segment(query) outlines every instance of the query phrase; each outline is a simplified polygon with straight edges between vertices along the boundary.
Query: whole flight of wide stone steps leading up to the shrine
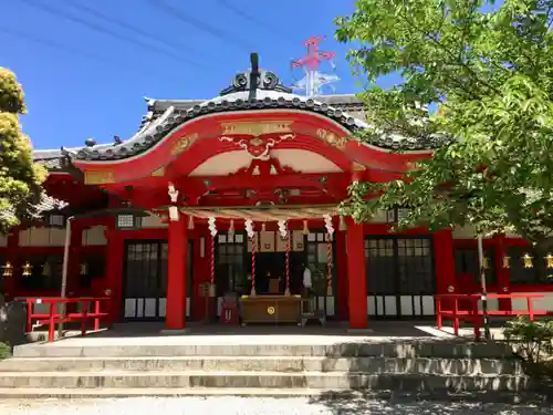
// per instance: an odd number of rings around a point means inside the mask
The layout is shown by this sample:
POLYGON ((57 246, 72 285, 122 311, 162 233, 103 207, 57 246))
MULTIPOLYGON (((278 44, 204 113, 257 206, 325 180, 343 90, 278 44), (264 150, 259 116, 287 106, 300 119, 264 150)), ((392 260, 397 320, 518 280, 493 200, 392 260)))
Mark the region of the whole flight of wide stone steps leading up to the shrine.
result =
MULTIPOLYGON (((269 339, 265 336, 265 339, 269 339)), ((448 397, 531 391, 498 344, 340 341, 333 344, 28 344, 0 362, 2 397, 294 396, 372 393, 448 397)), ((326 342, 327 343, 327 342, 326 342)))

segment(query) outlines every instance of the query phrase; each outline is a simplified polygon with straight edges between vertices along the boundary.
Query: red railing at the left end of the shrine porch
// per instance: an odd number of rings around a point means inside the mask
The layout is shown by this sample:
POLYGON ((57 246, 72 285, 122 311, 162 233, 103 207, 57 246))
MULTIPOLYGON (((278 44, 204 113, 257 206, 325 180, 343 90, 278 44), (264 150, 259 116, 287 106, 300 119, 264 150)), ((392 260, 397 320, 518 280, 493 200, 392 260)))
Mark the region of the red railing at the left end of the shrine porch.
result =
POLYGON ((103 312, 101 303, 107 302, 109 298, 28 298, 27 302, 27 332, 31 332, 34 325, 48 325, 48 341, 54 341, 55 325, 60 323, 81 322, 81 334, 86 335, 86 323, 94 320, 94 330, 100 330, 100 320, 107 317, 107 312, 103 312), (34 304, 48 304, 48 313, 35 313, 34 304), (64 304, 63 315, 60 313, 59 305, 64 304), (90 305, 92 311, 90 310, 90 305), (70 310, 71 305, 81 305, 81 311, 70 310))

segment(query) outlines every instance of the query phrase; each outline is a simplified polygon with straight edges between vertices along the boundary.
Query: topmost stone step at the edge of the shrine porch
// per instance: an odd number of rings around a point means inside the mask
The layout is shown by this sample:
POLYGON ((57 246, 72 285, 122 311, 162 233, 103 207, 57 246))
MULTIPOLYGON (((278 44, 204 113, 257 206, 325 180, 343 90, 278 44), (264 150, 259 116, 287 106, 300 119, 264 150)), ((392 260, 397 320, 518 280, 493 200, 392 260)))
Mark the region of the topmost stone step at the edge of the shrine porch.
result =
POLYGON ((442 359, 510 359, 504 344, 466 342, 341 342, 336 344, 25 344, 15 346, 14 357, 139 357, 139 356, 383 356, 442 359))

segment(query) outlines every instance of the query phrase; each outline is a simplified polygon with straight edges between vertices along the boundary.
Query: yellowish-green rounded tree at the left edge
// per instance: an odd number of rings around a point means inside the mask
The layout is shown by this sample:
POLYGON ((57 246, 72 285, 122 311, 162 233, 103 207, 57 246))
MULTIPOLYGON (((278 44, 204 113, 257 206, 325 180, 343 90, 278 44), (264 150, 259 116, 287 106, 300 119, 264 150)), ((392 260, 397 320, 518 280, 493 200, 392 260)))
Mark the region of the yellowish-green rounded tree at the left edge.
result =
POLYGON ((31 215, 42 195, 45 170, 33 163, 31 142, 21 131, 24 113, 21 85, 0 68, 0 234, 31 215))

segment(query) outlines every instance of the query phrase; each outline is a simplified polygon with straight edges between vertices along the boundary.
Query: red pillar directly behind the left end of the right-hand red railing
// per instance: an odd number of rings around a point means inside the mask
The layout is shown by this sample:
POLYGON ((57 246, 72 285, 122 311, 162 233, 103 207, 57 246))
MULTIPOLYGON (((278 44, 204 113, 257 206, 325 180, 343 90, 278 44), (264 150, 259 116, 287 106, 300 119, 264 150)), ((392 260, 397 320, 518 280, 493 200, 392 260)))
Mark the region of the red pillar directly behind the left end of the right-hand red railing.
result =
MULTIPOLYGON (((442 229, 434 234, 434 258, 436 269, 436 293, 458 294, 455 274, 453 238, 450 229, 442 229)), ((442 308, 450 310, 451 301, 444 301, 442 308)))

